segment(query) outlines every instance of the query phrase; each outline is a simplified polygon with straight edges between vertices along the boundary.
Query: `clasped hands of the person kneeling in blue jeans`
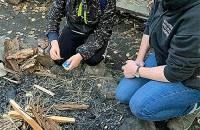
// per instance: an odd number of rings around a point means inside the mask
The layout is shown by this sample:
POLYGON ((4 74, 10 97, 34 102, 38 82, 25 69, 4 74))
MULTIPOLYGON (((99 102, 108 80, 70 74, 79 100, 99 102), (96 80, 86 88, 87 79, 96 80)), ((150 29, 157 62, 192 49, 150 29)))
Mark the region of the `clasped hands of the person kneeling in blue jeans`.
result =
POLYGON ((125 78, 134 78, 138 65, 133 60, 126 61, 126 65, 122 67, 125 78))

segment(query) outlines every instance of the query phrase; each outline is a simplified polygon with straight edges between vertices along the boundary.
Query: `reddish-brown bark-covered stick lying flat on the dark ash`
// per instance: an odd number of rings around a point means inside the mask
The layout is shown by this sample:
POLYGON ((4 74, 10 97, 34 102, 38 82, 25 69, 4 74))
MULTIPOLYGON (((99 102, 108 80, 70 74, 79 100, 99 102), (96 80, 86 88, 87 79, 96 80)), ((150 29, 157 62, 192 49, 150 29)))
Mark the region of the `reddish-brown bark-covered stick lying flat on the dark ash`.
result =
POLYGON ((65 111, 65 110, 86 110, 89 108, 89 105, 86 104, 77 104, 77 103, 67 103, 67 104, 60 104, 55 105, 55 109, 59 111, 65 111))

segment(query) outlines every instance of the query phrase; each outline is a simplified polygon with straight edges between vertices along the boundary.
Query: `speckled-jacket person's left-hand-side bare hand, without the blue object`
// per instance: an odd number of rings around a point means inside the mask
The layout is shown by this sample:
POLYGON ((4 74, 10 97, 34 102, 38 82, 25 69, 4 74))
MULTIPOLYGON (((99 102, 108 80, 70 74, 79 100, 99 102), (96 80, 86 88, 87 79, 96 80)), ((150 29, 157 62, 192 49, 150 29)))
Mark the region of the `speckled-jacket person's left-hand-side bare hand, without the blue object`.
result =
POLYGON ((59 48, 57 40, 51 41, 50 56, 51 56, 51 59, 53 59, 53 60, 61 59, 61 57, 60 57, 60 48, 59 48))

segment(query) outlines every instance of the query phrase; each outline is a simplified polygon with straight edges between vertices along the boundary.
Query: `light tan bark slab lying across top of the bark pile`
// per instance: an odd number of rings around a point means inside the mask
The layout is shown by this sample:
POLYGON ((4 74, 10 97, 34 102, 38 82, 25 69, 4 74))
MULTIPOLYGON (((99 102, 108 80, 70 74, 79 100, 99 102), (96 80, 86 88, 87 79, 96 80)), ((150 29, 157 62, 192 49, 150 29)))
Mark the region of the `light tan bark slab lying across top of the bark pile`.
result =
POLYGON ((37 48, 27 48, 17 51, 16 53, 9 54, 6 59, 28 59, 34 55, 36 55, 38 52, 37 48))

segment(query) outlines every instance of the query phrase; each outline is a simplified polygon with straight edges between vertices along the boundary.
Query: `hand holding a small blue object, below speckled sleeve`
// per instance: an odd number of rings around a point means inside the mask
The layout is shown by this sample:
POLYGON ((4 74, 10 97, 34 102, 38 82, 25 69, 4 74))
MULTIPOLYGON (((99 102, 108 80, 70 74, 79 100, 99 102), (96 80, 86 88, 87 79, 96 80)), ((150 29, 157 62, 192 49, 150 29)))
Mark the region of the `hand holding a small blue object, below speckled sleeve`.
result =
POLYGON ((78 53, 76 55, 71 56, 68 60, 67 63, 69 63, 69 67, 66 68, 67 71, 71 71, 74 68, 78 67, 79 64, 81 63, 82 56, 78 53))

